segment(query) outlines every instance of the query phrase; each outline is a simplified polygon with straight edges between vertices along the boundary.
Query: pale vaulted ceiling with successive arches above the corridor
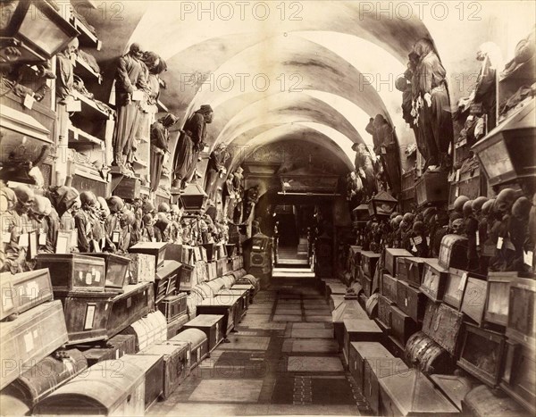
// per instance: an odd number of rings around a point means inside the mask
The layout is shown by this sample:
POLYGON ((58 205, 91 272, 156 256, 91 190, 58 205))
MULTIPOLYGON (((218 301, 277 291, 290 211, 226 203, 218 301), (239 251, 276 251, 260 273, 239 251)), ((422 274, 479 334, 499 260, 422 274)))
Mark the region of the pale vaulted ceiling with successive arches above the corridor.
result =
MULTIPOLYGON (((449 21, 437 19, 438 11, 419 15, 414 8, 408 15, 397 8, 379 15, 375 7, 378 2, 124 1, 106 19, 102 11, 93 13, 100 19, 86 15, 103 39, 97 59, 107 74, 131 42, 163 57, 168 88, 162 101, 180 117, 178 127, 199 105, 213 106, 212 147, 226 143, 251 151, 295 139, 322 146, 349 169, 352 144, 372 143, 364 127, 377 113, 393 124, 401 145, 414 141, 394 80, 418 38, 432 38, 447 70, 460 72, 478 71, 474 54, 482 42, 514 42, 504 40, 497 8, 485 10, 485 4, 479 21, 468 21, 469 9, 460 20, 454 4, 449 21)), ((105 82, 108 94, 111 80, 105 82)), ((449 88, 457 100, 471 84, 449 88)), ((245 154, 234 152, 232 163, 245 154)))

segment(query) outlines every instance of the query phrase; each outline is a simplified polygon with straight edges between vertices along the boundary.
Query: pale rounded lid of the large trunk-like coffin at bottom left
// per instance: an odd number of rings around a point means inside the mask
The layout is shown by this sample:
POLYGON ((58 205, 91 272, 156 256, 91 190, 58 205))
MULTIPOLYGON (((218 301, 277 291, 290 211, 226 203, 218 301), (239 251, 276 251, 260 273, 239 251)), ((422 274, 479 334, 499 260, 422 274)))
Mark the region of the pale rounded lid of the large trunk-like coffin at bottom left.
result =
POLYGON ((122 361, 121 370, 118 370, 117 360, 96 363, 88 372, 40 401, 38 410, 46 413, 47 407, 52 410, 69 407, 76 413, 76 404, 86 404, 95 409, 113 411, 144 379, 145 371, 136 363, 122 361), (118 375, 118 372, 121 373, 118 375))

